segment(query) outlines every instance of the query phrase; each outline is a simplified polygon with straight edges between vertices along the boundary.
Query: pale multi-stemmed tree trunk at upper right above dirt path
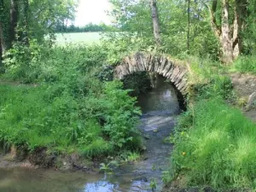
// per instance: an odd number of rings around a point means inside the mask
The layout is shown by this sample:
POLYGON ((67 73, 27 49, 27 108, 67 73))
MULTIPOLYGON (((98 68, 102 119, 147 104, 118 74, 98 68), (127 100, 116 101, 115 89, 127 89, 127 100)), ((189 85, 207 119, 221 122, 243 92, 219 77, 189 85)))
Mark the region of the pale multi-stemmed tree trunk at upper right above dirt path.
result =
POLYGON ((230 63, 241 53, 241 30, 247 15, 247 0, 212 0, 212 6, 207 7, 211 15, 212 30, 221 45, 221 59, 224 63, 230 63), (220 16, 218 9, 221 10, 220 16))

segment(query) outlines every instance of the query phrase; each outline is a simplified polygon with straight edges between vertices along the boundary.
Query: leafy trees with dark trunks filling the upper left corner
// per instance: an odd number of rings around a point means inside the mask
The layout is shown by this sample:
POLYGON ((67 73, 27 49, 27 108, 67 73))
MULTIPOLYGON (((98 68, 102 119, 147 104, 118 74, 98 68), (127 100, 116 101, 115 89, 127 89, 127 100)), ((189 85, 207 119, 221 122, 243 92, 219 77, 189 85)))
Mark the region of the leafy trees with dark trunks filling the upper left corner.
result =
POLYGON ((77 0, 0 0, 0 58, 15 43, 44 41, 63 20, 73 20, 77 0))

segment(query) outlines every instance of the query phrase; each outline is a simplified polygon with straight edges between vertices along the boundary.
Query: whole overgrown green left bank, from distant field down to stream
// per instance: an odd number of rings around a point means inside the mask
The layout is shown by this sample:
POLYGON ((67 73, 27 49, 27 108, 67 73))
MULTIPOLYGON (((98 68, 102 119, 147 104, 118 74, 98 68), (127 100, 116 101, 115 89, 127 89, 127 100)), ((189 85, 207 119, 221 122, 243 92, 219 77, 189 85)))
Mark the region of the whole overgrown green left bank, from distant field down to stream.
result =
POLYGON ((100 73, 107 58, 102 47, 37 48, 22 47, 33 51, 30 57, 14 53, 15 59, 5 61, 7 73, 0 83, 5 149, 14 145, 31 153, 48 148, 101 158, 141 148, 140 109, 121 82, 108 82, 108 71, 100 73))

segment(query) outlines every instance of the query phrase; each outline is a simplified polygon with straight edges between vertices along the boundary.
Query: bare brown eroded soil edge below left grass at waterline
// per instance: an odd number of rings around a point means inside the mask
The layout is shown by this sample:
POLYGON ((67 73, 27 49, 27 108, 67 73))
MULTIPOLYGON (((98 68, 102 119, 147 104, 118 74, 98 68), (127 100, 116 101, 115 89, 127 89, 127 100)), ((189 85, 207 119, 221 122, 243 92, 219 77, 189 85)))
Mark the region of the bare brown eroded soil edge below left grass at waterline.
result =
POLYGON ((47 148, 38 148, 31 154, 15 147, 12 147, 7 154, 0 152, 0 168, 26 167, 92 172, 98 165, 99 162, 86 160, 79 154, 53 154, 49 153, 47 148))

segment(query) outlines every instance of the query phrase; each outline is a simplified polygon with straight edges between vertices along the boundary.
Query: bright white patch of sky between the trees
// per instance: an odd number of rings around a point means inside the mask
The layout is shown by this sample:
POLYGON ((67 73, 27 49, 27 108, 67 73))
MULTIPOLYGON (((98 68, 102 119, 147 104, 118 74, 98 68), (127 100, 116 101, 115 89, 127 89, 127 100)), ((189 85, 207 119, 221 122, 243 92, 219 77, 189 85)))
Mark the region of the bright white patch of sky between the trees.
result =
POLYGON ((93 24, 99 24, 104 22, 110 23, 106 10, 110 9, 110 3, 108 0, 79 0, 79 8, 77 9, 75 26, 85 26, 92 22, 93 24))

